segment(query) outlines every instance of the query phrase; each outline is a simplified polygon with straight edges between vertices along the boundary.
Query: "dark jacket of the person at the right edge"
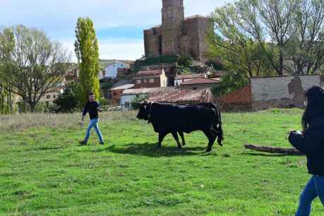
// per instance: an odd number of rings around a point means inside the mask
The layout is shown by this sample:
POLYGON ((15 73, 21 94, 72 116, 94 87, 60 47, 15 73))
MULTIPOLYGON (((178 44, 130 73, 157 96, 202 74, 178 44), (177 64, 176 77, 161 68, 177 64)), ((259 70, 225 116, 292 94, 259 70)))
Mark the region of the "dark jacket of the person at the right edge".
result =
POLYGON ((307 155, 308 172, 324 176, 324 114, 314 118, 308 131, 290 133, 289 142, 300 152, 307 155))

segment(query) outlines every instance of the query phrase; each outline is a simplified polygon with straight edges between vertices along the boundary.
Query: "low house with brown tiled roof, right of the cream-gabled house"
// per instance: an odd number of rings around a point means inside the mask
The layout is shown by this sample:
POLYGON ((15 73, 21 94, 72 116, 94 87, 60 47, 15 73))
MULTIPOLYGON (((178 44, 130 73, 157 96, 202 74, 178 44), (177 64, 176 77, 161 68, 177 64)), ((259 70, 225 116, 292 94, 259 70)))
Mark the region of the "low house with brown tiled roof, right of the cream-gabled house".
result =
POLYGON ((194 78, 180 83, 181 90, 213 89, 220 86, 220 78, 194 78))

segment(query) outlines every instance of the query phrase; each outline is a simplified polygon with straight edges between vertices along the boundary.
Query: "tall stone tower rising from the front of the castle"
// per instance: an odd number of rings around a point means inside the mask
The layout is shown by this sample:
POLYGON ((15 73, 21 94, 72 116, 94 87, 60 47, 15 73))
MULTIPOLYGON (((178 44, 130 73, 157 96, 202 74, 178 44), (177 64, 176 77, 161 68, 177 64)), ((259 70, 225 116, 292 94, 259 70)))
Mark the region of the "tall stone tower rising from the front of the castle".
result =
POLYGON ((180 54, 184 0, 162 0, 162 54, 180 54))

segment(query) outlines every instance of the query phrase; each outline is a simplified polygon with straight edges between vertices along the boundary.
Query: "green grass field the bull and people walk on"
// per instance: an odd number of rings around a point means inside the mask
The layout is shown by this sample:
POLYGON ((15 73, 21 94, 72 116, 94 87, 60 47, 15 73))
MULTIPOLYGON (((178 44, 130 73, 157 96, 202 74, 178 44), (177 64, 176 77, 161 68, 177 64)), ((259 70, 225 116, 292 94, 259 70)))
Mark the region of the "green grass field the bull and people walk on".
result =
MULTIPOLYGON (((135 112, 105 113, 107 145, 78 146, 79 114, 0 116, 0 215, 294 215, 310 178, 305 157, 245 150, 289 147, 301 111, 223 114, 224 147, 202 132, 176 149, 135 112)), ((319 200, 313 215, 324 215, 319 200)))

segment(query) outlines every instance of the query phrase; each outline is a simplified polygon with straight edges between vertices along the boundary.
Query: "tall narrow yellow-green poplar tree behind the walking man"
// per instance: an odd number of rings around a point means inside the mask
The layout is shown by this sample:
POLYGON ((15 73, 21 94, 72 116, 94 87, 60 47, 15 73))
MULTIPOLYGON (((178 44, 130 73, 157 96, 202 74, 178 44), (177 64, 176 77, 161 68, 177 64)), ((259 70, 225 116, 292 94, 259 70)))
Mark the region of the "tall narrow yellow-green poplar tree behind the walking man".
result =
POLYGON ((99 47, 90 18, 78 18, 76 25, 76 42, 74 43, 76 56, 80 65, 80 104, 88 100, 88 93, 93 92, 100 98, 99 82, 99 47))

